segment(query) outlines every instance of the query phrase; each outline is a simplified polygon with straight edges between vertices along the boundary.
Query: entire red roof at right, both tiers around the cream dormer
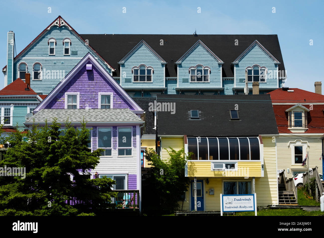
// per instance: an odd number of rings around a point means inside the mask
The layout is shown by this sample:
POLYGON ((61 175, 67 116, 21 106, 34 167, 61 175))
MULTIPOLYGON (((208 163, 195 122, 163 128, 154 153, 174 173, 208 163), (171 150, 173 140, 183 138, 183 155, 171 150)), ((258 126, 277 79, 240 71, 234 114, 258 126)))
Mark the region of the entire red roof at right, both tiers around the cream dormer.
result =
POLYGON ((268 93, 271 96, 279 133, 293 134, 292 131, 288 130, 288 112, 285 112, 285 110, 296 104, 302 104, 302 106, 310 109, 307 112, 308 130, 305 133, 324 133, 324 95, 308 92, 299 88, 289 88, 289 90, 294 90, 294 92, 284 91, 282 88, 279 88, 268 93), (310 105, 312 105, 312 109, 310 105))

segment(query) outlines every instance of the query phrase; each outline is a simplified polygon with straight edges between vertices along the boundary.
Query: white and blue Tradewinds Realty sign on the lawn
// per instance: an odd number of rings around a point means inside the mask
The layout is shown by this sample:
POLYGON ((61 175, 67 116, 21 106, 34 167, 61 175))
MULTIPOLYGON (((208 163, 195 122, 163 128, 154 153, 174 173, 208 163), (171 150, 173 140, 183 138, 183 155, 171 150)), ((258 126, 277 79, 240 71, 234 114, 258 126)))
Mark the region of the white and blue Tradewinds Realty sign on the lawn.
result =
POLYGON ((221 215, 223 212, 230 211, 255 211, 255 215, 257 215, 256 204, 256 194, 221 194, 221 215))

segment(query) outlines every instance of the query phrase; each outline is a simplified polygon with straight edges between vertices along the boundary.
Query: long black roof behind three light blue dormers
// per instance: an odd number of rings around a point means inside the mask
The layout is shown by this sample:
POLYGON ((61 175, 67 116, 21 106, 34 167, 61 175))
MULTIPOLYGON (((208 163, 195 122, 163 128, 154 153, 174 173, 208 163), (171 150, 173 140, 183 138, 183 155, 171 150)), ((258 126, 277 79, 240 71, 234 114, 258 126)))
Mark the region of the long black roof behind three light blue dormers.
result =
POLYGON ((201 40, 223 62, 223 77, 234 77, 231 63, 245 51, 254 40, 258 40, 279 62, 279 70, 284 70, 284 61, 277 35, 104 35, 81 34, 112 67, 116 69, 113 76, 120 76, 118 62, 141 40, 145 40, 166 62, 166 77, 177 77, 175 62, 201 40), (160 40, 168 44, 160 45, 160 40), (238 45, 234 45, 238 40, 238 45))

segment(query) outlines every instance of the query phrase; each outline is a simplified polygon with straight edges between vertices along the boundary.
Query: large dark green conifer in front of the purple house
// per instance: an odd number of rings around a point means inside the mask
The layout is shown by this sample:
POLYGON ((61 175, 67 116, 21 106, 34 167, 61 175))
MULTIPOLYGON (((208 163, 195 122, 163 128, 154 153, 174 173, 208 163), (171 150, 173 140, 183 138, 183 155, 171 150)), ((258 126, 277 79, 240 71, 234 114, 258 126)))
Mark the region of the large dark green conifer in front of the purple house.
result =
POLYGON ((13 147, 0 167, 25 168, 26 173, 0 176, 0 215, 94 215, 116 207, 111 202, 117 196, 111 189, 115 181, 90 179, 93 174, 87 172, 98 165, 101 149, 88 149, 86 123, 76 130, 66 122, 64 135, 60 128, 54 119, 50 126, 33 125, 27 135, 16 130, 9 136, 13 147))

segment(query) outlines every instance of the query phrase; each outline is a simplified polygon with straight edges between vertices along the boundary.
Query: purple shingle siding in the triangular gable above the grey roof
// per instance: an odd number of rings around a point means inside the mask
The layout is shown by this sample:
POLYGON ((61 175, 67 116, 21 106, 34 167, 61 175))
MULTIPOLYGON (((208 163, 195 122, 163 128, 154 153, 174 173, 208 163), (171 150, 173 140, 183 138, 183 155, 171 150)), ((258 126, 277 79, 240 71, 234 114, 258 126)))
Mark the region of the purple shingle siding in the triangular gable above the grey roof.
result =
MULTIPOLYGON (((88 62, 89 63, 89 62, 88 62)), ((65 93, 80 93, 79 108, 98 108, 99 92, 113 93, 113 108, 134 108, 114 89, 111 83, 95 68, 87 72, 86 66, 65 85, 65 87, 46 106, 47 109, 64 109, 65 93)))

